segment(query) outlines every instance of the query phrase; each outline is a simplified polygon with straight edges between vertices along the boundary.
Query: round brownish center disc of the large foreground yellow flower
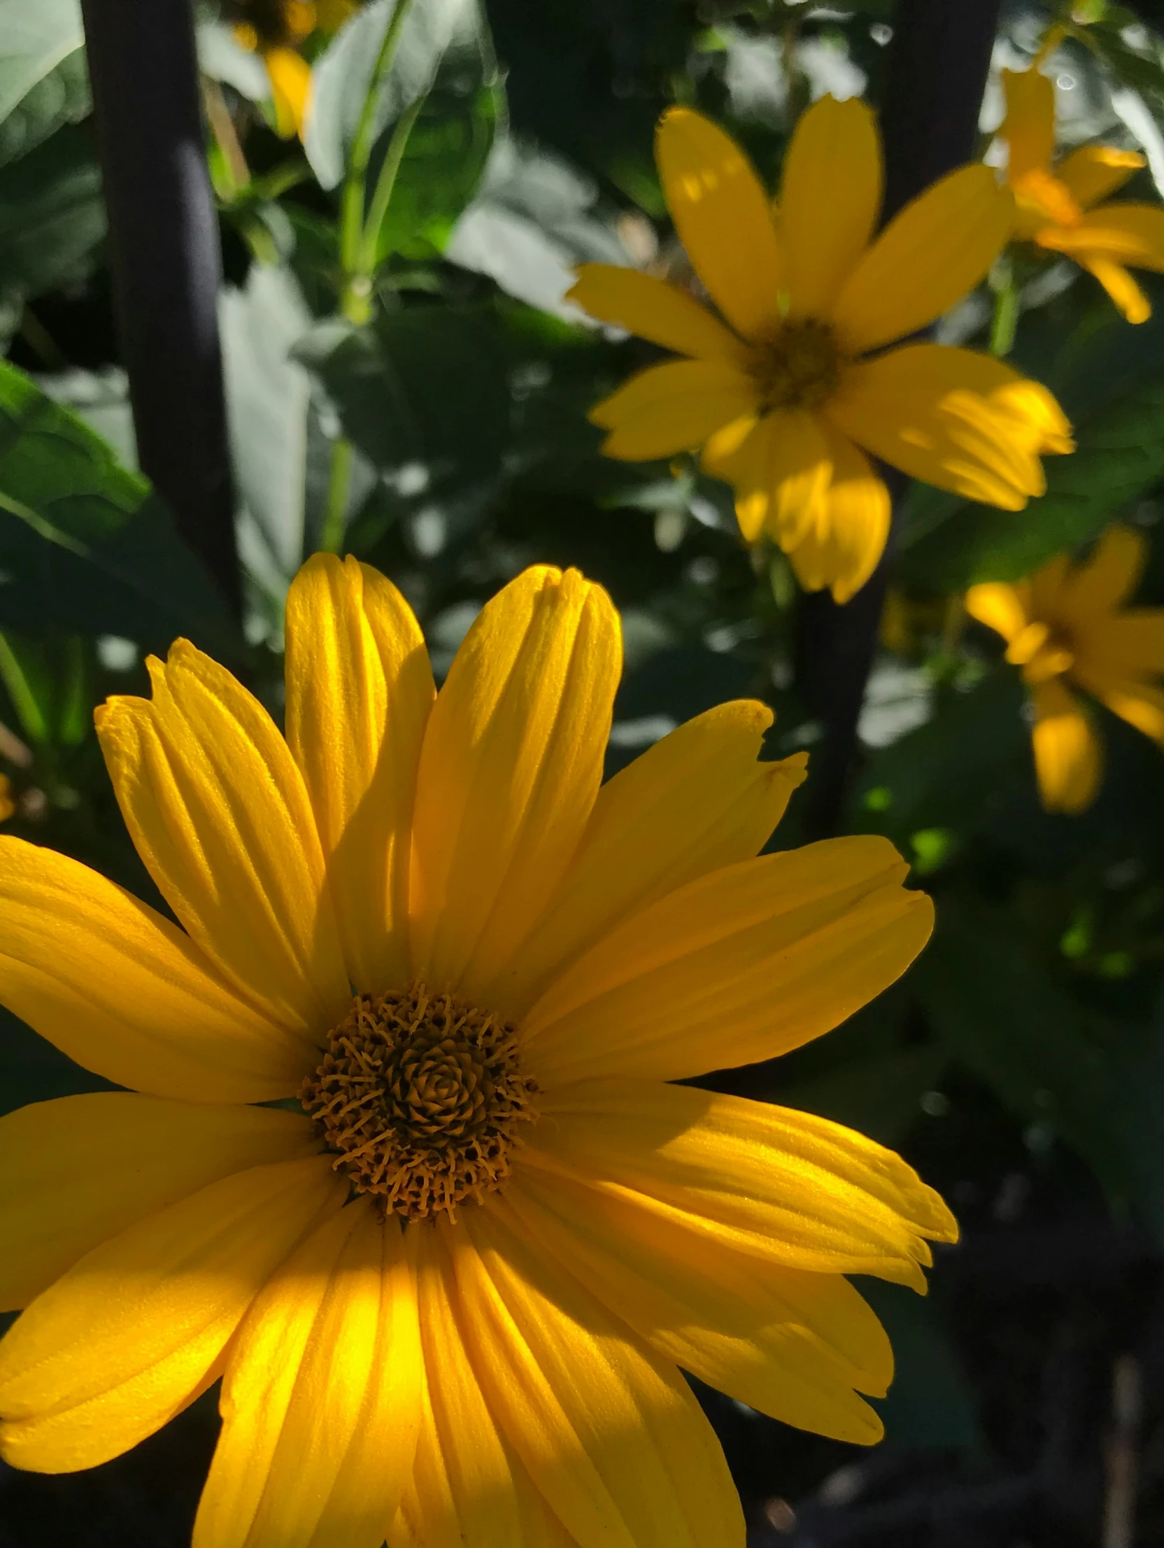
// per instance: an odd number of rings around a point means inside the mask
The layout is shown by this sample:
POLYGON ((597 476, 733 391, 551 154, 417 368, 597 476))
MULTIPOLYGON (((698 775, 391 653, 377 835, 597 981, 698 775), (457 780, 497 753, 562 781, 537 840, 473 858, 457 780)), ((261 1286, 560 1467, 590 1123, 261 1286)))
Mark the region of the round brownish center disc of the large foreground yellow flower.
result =
POLYGON ((356 995, 300 1102, 353 1187, 421 1220, 505 1183, 536 1096, 514 1026, 410 985, 356 995))

